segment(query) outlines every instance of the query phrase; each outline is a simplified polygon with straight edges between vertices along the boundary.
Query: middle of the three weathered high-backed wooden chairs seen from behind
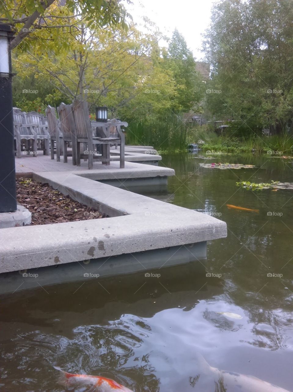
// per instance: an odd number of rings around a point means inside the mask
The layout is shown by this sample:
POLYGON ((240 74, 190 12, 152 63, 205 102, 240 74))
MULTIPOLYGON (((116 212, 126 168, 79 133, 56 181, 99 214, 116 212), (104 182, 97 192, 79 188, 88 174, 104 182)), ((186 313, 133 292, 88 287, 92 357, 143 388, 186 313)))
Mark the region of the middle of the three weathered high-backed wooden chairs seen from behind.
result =
MULTIPOLYGON (((61 103, 57 108, 60 128, 63 135, 63 162, 67 163, 67 142, 75 140, 74 120, 72 115, 72 105, 61 103)), ((72 165, 76 165, 75 143, 72 143, 72 165)))

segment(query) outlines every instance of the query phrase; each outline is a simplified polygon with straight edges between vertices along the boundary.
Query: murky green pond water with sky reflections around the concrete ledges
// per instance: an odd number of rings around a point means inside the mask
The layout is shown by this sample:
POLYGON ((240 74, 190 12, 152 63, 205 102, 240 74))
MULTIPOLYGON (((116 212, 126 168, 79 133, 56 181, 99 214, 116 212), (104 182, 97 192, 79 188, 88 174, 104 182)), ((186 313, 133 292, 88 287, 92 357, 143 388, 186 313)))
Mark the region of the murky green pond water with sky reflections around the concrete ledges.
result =
MULTIPOLYGON (((164 156, 161 165, 176 176, 167 193, 152 196, 224 220, 228 237, 208 244, 207 260, 166 262, 154 276, 142 271, 2 296, 0 390, 63 391, 52 365, 135 392, 250 390, 221 387, 205 372, 206 360, 293 391, 293 191, 235 185, 293 182, 293 163, 201 155, 164 156), (199 165, 211 162, 256 167, 199 165)), ((261 390, 270 391, 254 389, 261 390)))

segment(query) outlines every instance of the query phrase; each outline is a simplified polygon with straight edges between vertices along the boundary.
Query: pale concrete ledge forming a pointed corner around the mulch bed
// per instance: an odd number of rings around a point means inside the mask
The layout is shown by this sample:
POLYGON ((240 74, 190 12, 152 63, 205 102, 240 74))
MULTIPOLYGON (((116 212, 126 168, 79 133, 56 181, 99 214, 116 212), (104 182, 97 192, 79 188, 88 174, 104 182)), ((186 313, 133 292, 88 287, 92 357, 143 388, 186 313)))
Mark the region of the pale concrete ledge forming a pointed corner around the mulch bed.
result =
MULTIPOLYGON (((152 172, 158 169, 152 168, 152 172)), ((111 218, 0 229, 0 272, 226 237, 226 223, 221 220, 99 183, 85 175, 84 171, 39 172, 33 177, 111 218)))

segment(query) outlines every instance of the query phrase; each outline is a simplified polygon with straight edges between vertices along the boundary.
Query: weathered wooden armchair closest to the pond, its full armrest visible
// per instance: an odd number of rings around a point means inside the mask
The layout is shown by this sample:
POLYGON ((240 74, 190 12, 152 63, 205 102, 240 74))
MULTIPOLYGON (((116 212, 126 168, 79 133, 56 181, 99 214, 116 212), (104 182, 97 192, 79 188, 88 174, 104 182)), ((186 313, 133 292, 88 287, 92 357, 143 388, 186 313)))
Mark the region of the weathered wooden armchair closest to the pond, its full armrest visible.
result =
MULTIPOLYGON (((88 168, 93 168, 93 159, 110 165, 110 144, 120 144, 120 168, 124 168, 124 134, 120 131, 120 125, 127 126, 127 123, 115 123, 119 137, 108 137, 108 129, 113 127, 113 123, 99 123, 96 122, 97 129, 102 129, 99 136, 94 137, 92 131, 92 124, 89 118, 88 104, 86 101, 74 100, 72 104, 72 113, 74 118, 74 130, 76 138, 75 151, 77 165, 80 165, 81 152, 80 143, 87 143, 87 151, 82 154, 83 158, 88 158, 88 168), (102 145, 102 155, 97 155, 94 145, 102 145)), ((73 145, 73 143, 72 143, 73 145)))

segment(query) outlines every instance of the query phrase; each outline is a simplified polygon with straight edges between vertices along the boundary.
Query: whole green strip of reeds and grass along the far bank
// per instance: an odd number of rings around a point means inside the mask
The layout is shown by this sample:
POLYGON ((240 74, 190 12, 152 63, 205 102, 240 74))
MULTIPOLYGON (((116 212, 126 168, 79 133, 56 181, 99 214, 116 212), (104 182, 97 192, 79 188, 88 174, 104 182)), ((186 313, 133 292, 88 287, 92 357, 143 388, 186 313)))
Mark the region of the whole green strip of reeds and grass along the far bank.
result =
POLYGON ((129 122, 126 128, 126 143, 131 145, 151 145, 161 152, 186 151, 190 143, 199 140, 203 150, 224 152, 267 152, 293 154, 293 138, 289 134, 280 136, 243 137, 229 135, 228 132, 216 134, 212 126, 184 124, 175 114, 146 118, 129 122))

